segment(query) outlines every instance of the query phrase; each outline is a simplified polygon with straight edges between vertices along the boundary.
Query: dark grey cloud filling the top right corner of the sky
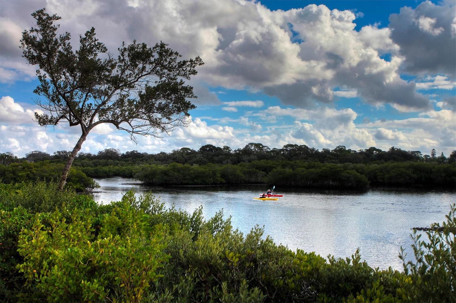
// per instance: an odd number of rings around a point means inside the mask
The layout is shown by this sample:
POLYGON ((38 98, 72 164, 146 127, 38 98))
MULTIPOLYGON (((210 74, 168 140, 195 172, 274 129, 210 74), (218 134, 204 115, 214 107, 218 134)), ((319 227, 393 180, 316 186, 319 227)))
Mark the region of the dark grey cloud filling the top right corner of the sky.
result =
POLYGON ((402 68, 413 74, 456 73, 455 2, 424 1, 389 16, 391 38, 404 57, 402 68))

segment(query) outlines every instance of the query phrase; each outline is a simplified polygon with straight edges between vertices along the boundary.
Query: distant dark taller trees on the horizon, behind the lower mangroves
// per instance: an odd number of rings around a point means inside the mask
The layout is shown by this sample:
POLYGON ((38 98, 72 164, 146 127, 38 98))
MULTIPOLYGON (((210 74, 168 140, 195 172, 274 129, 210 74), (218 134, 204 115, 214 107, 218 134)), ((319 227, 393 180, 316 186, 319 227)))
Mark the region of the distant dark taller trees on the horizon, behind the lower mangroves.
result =
MULTIPOLYGON (((147 152, 120 152, 115 148, 107 148, 96 154, 89 152, 80 152, 75 159, 79 166, 113 165, 116 162, 156 162, 161 164, 181 163, 181 164, 238 164, 241 162, 253 162, 256 160, 304 160, 308 162, 326 162, 326 163, 371 163, 371 162, 456 162, 456 151, 453 151, 449 157, 443 152, 437 156, 435 149, 431 150, 430 155, 423 155, 420 151, 404 151, 392 146, 388 151, 383 151, 376 147, 360 149, 358 151, 347 149, 345 146, 337 146, 330 150, 323 148, 321 151, 306 145, 287 144, 282 148, 269 148, 261 143, 249 143, 243 148, 233 150, 229 146, 214 146, 207 144, 201 146, 198 150, 188 147, 182 147, 172 152, 159 152, 149 154, 147 152), (103 161, 109 162, 103 162, 103 161)), ((70 156, 69 151, 57 151, 52 155, 47 152, 32 151, 28 152, 25 157, 18 158, 11 152, 0 154, 0 164, 9 164, 11 162, 28 161, 39 162, 43 160, 61 160, 66 161, 70 156)))

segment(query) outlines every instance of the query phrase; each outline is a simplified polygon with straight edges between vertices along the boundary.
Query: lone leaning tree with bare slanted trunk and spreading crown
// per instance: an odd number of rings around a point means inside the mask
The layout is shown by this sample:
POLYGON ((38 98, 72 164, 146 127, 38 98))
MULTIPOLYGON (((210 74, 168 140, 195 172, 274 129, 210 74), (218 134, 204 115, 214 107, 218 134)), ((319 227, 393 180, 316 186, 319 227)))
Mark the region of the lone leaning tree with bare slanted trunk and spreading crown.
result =
POLYGON ((122 43, 115 58, 95 37, 95 29, 79 36, 79 49, 73 51, 71 35, 58 34, 61 17, 45 9, 32 14, 36 27, 22 33, 23 57, 38 66, 40 84, 34 93, 43 114, 35 113, 41 126, 81 127, 81 136, 68 157, 60 180, 63 189, 71 164, 88 133, 102 123, 127 131, 137 143, 136 135, 159 137, 169 134, 190 120, 196 98, 193 87, 184 79, 196 75, 203 64, 200 57, 180 60, 178 52, 161 42, 153 47, 135 40, 122 43))

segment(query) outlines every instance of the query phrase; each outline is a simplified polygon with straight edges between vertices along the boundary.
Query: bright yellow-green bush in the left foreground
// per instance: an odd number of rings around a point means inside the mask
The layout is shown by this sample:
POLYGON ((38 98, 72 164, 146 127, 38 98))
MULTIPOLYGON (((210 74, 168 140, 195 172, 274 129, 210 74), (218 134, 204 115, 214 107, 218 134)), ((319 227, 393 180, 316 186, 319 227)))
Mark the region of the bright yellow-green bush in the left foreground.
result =
POLYGON ((18 242, 24 299, 140 302, 168 258, 161 228, 146 216, 127 203, 98 218, 91 209, 36 216, 18 242))

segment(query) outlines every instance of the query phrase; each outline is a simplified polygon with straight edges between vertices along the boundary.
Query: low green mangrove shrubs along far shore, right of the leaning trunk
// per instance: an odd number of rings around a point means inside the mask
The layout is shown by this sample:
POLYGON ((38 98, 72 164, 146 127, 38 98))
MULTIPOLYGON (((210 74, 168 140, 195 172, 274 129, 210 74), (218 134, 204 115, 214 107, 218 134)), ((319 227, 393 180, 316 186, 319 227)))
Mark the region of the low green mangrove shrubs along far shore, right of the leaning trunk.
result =
POLYGON ((134 177, 153 185, 258 184, 281 187, 366 188, 456 186, 456 166, 438 162, 334 164, 260 160, 233 164, 126 164, 81 167, 90 177, 134 177))

